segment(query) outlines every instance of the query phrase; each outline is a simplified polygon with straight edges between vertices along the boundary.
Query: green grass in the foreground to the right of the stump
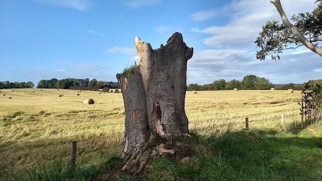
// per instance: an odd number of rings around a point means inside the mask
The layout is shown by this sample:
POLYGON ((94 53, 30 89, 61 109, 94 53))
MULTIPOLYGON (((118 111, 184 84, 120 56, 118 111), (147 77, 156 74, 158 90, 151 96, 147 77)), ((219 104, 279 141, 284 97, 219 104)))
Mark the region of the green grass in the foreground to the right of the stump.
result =
MULTIPOLYGON (((307 129, 320 130, 322 124, 307 129)), ((190 161, 156 158, 136 180, 322 180, 322 137, 305 130, 192 134, 190 161), (259 133, 260 132, 260 133, 259 133), (297 132, 297 133, 295 133, 297 132)), ((135 180, 132 178, 132 180, 135 180)))

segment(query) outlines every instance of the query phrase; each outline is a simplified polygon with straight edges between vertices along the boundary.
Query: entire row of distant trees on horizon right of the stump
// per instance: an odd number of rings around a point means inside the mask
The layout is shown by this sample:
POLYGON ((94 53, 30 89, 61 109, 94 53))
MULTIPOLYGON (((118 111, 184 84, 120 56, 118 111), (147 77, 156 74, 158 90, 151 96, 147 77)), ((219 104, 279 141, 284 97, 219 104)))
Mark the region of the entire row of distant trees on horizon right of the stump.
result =
MULTIPOLYGON (((322 85, 322 80, 310 80, 310 83, 318 83, 322 85)), ((255 75, 247 75, 243 80, 230 80, 226 82, 224 79, 215 80, 213 83, 198 85, 196 83, 189 84, 187 91, 221 91, 221 90, 232 90, 238 88, 240 90, 269 90, 275 88, 277 90, 293 89, 294 91, 302 91, 304 84, 288 83, 285 85, 275 86, 269 79, 264 77, 258 77, 255 75)))

